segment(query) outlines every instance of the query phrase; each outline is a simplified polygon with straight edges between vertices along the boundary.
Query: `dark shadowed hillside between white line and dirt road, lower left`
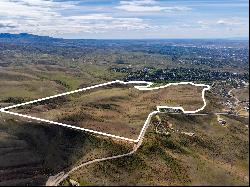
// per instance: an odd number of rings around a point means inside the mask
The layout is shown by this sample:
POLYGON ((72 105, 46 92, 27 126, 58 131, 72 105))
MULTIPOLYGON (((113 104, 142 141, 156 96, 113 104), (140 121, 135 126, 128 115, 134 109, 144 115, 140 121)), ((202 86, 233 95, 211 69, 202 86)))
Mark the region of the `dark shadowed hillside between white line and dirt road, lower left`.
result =
POLYGON ((44 185, 78 162, 122 154, 130 145, 0 114, 0 185, 44 185))

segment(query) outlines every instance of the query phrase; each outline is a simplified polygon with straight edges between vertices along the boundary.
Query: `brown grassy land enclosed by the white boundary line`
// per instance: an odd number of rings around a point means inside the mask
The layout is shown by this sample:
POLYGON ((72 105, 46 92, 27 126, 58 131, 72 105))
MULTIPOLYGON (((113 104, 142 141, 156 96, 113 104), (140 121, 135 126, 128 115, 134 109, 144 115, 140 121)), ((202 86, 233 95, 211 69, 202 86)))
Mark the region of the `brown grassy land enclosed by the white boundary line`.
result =
POLYGON ((169 86, 141 91, 134 85, 112 84, 14 108, 12 111, 118 136, 136 139, 156 106, 203 106, 203 87, 169 86))

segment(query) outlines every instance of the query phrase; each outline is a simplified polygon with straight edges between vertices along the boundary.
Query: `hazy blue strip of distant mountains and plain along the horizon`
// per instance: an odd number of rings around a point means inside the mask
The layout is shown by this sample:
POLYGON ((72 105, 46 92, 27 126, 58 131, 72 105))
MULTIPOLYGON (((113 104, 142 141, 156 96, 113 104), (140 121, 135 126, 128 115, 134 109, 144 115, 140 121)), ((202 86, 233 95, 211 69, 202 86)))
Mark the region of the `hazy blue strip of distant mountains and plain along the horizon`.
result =
MULTIPOLYGON (((126 48, 134 51, 145 49, 145 46, 153 46, 154 48, 162 48, 165 46, 179 47, 248 47, 248 40, 242 39, 145 39, 145 40, 129 40, 129 39, 63 39, 53 38, 49 36, 39 36, 29 33, 10 34, 0 33, 0 47, 3 44, 11 46, 36 47, 37 49, 47 50, 49 47, 66 47, 66 48, 81 48, 86 47, 102 48, 112 47, 115 49, 126 48)), ((6 47, 6 45, 4 45, 6 47)))

